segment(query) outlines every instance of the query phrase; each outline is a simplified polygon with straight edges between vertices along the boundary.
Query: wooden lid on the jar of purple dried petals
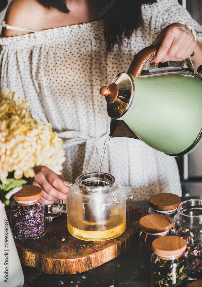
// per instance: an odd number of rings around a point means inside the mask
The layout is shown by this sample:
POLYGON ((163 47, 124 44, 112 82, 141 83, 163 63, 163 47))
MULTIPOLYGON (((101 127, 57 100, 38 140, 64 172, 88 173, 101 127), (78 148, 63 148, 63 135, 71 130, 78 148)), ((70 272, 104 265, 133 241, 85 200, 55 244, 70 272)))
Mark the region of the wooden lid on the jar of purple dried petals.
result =
POLYGON ((13 199, 17 201, 33 201, 42 196, 42 189, 36 185, 23 185, 22 189, 13 194, 13 199))

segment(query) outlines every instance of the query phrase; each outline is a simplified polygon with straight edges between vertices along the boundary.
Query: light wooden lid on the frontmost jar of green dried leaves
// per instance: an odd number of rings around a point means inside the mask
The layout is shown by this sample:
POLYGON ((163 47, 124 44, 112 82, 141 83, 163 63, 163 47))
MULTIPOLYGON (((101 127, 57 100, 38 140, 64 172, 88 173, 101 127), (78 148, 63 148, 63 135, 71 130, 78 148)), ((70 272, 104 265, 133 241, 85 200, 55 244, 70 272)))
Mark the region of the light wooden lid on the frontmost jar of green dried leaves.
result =
POLYGON ((162 236, 152 242, 152 249, 159 256, 179 255, 187 248, 183 238, 178 236, 162 236))

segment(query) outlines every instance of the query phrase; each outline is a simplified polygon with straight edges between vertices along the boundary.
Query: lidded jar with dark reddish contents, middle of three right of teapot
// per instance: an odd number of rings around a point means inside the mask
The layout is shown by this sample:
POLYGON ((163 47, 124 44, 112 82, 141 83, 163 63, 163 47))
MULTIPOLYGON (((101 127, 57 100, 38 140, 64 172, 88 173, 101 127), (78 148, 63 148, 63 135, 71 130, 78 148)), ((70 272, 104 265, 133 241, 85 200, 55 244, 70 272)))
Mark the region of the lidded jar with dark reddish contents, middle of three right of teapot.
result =
POLYGON ((162 214, 150 214, 139 221, 139 264, 143 269, 150 269, 152 242, 168 234, 173 226, 172 218, 162 214))

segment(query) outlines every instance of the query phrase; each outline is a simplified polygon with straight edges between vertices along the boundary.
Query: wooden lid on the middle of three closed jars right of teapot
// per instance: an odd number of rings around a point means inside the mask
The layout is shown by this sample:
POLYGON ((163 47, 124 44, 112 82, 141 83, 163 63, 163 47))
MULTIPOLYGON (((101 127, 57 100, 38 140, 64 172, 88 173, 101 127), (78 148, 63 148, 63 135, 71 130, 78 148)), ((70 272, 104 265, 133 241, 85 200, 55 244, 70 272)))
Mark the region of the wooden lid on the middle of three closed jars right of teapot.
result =
POLYGON ((172 218, 164 214, 149 214, 139 221, 140 228, 147 233, 160 233, 173 227, 172 218))

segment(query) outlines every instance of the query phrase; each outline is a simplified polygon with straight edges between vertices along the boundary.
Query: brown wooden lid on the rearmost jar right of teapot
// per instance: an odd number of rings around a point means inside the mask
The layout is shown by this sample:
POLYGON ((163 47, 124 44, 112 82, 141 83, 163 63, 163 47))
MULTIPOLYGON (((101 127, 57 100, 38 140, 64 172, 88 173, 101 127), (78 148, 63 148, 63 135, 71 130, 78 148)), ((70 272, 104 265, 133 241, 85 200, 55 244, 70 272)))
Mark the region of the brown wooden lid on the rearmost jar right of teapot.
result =
POLYGON ((174 210, 177 208, 181 199, 173 193, 157 193, 149 198, 149 205, 155 210, 174 210))

